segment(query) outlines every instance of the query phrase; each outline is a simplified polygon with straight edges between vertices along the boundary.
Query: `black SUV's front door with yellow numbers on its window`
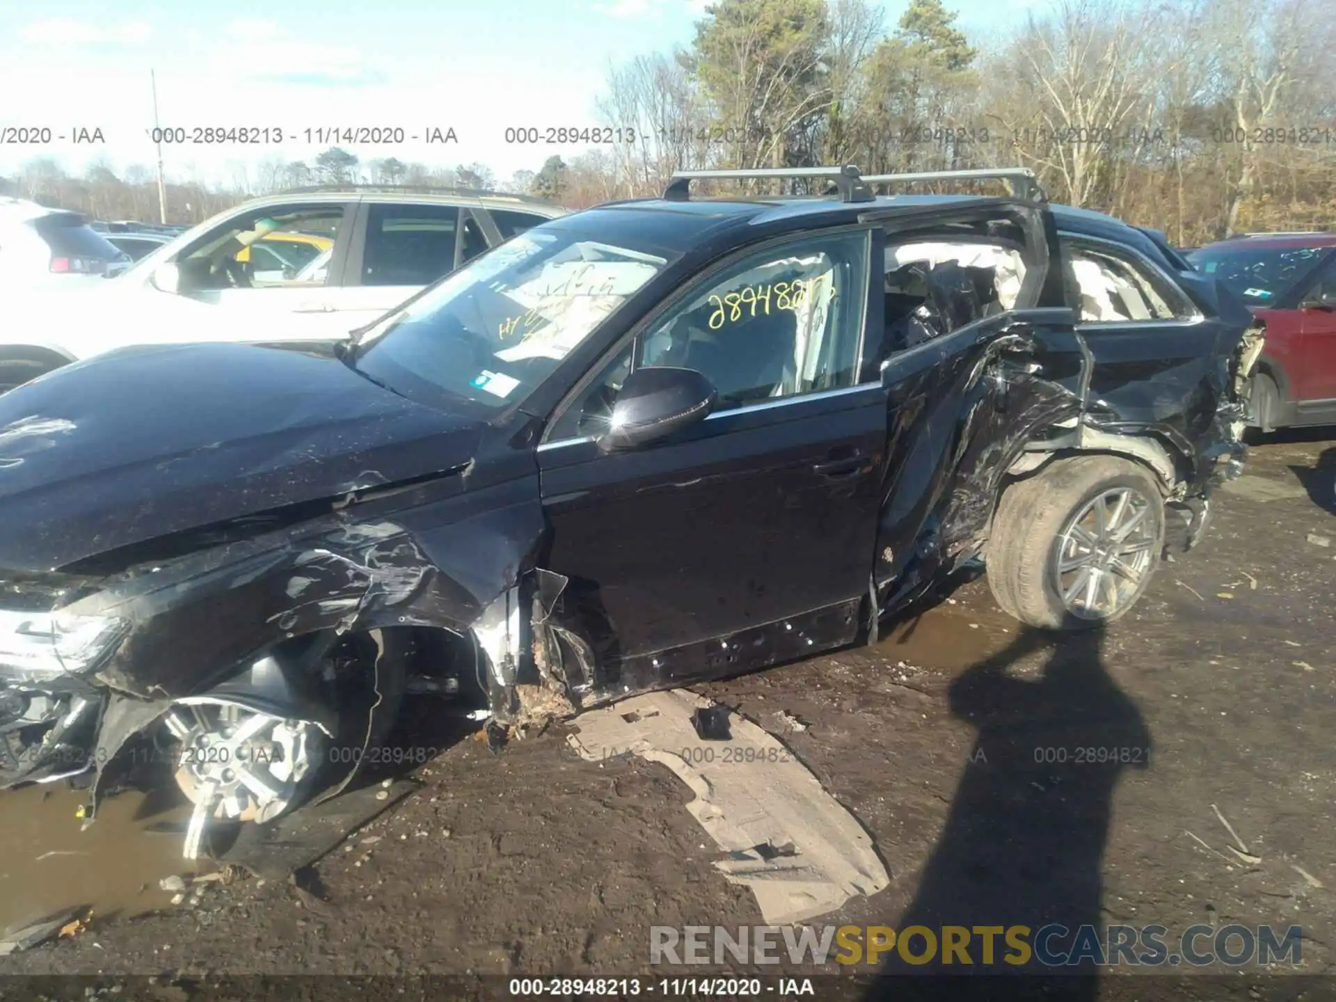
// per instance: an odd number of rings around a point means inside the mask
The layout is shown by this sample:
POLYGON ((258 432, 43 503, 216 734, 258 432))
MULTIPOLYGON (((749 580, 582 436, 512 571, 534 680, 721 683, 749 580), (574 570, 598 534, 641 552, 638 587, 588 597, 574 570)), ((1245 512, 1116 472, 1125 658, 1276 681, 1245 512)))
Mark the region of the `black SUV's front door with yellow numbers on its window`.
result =
POLYGON ((870 240, 814 235, 725 265, 558 410, 538 452, 544 566, 570 578, 603 681, 741 671, 856 633, 886 448, 886 390, 858 382, 870 240), (704 373, 719 405, 603 454, 617 387, 645 365, 704 373))

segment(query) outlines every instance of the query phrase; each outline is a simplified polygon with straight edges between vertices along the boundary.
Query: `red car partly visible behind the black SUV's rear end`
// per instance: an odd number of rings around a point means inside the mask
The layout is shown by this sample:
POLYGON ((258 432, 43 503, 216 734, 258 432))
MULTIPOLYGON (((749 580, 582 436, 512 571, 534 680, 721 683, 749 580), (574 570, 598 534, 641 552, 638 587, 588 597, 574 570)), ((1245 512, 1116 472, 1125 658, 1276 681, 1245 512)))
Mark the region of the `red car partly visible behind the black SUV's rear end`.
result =
POLYGON ((1249 424, 1336 425, 1336 232, 1234 236, 1188 261, 1267 323, 1249 424))

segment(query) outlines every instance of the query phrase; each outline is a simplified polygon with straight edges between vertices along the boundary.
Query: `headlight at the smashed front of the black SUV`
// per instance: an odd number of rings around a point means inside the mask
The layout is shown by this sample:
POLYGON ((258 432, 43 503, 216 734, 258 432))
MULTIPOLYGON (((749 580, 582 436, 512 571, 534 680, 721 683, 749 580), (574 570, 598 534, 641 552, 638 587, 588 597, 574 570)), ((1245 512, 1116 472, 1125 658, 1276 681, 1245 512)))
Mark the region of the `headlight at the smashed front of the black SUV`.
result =
POLYGON ((0 677, 35 683, 87 671, 127 625, 116 616, 0 609, 0 677))

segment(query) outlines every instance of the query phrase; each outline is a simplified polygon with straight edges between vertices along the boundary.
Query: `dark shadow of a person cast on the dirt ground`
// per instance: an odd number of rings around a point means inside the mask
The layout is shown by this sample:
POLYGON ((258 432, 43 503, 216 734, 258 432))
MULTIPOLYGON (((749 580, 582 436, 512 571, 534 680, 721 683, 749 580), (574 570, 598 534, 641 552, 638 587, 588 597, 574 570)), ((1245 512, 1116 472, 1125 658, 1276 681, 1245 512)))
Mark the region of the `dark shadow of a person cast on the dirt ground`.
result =
MULTIPOLYGON (((978 733, 946 827, 914 900, 894 926, 895 949, 882 954, 868 998, 942 991, 951 998, 1027 997, 1013 978, 998 985, 987 977, 951 977, 943 985, 914 974, 1057 975, 1063 978, 1058 997, 1096 998, 1113 792, 1124 770, 1150 762, 1149 731, 1106 673, 1102 644, 1101 628, 1061 635, 1022 629, 1006 649, 951 684, 953 716, 978 733), (1049 657, 1038 679, 1009 672, 1043 651, 1049 657), (1015 929, 1022 926, 1023 934, 1015 929), (949 937, 959 949, 949 953, 949 937), (1062 959, 1067 963, 1054 965, 1062 959)), ((1055 997, 1053 983, 1031 987, 1035 997, 1041 990, 1055 997)))

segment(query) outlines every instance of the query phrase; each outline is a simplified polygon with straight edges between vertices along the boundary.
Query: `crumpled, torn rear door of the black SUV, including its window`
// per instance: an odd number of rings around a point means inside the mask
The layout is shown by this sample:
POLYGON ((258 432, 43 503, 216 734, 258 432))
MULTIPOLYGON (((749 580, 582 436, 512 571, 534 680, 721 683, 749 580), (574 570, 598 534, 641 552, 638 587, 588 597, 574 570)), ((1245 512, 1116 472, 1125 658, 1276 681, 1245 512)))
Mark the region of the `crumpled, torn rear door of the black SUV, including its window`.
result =
POLYGON ((890 611, 938 561, 969 553, 1009 457, 1033 429, 1079 414, 1088 365, 1047 212, 990 199, 883 215, 890 437, 875 582, 890 611))

